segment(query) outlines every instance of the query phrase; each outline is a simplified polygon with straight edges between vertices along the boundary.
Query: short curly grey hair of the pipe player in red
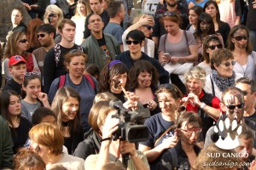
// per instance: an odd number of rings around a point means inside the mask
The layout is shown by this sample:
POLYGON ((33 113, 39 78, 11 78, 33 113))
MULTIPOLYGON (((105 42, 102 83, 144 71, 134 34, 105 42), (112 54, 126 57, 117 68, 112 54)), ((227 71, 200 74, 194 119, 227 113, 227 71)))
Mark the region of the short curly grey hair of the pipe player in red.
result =
POLYGON ((185 82, 188 82, 189 79, 191 78, 201 80, 201 82, 203 83, 203 86, 205 86, 207 82, 207 72, 205 71, 205 69, 201 68, 200 66, 194 66, 184 74, 185 82))

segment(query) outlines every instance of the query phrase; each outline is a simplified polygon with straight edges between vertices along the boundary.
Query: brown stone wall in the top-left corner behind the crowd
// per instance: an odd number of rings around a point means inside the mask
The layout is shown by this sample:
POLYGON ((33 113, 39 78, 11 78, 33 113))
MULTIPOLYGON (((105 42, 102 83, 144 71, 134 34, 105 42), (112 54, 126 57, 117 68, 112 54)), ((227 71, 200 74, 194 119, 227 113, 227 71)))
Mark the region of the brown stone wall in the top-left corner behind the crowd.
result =
POLYGON ((22 5, 20 0, 1 0, 0 3, 0 40, 3 42, 11 23, 12 10, 15 7, 21 7, 23 9, 23 21, 27 25, 31 17, 26 12, 26 8, 22 5))

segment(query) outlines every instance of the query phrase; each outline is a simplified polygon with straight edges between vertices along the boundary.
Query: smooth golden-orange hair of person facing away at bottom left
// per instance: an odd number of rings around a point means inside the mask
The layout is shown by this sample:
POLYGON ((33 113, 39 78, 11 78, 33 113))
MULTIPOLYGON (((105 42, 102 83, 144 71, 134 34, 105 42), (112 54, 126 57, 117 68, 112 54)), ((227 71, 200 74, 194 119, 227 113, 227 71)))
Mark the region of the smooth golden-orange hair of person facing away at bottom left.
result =
POLYGON ((58 156, 62 153, 64 138, 61 130, 50 123, 39 123, 32 127, 28 133, 32 141, 41 144, 49 149, 49 154, 58 156))

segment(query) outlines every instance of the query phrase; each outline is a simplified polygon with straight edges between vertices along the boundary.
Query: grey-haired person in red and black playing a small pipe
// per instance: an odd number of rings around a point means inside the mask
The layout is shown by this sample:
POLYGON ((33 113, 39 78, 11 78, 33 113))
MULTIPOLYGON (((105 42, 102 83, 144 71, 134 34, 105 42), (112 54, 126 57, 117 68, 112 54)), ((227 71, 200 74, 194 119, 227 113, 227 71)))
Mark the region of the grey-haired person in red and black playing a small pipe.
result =
POLYGON ((201 116, 202 135, 206 138, 207 130, 212 127, 214 119, 221 115, 220 100, 212 94, 207 94, 203 88, 206 83, 206 71, 199 66, 192 67, 184 75, 187 94, 183 105, 186 111, 195 111, 201 116))

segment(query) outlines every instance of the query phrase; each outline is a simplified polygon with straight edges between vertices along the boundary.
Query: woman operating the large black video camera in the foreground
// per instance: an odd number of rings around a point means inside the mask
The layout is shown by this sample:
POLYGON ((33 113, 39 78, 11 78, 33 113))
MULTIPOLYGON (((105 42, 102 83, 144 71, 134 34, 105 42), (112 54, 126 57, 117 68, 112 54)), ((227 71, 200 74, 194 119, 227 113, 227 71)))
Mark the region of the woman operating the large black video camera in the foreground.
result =
POLYGON ((109 161, 119 161, 120 155, 128 154, 130 159, 127 161, 127 169, 149 169, 147 157, 143 155, 143 152, 136 150, 134 143, 129 143, 127 140, 113 140, 113 134, 119 128, 119 119, 113 118, 117 111, 109 106, 109 102, 108 105, 102 105, 101 102, 96 105, 100 107, 96 128, 97 132, 102 135, 101 149, 98 155, 87 157, 84 167, 88 167, 88 169, 102 169, 104 164, 109 161))

